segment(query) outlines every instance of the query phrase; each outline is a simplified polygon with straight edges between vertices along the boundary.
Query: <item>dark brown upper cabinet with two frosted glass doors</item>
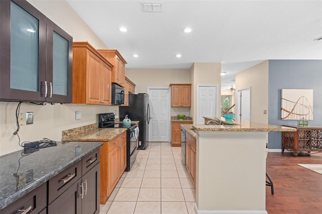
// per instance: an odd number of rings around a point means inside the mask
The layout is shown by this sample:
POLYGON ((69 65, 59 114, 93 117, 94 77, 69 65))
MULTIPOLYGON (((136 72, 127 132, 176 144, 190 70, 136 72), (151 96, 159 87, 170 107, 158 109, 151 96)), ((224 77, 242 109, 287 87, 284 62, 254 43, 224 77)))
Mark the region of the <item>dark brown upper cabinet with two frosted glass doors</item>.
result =
POLYGON ((27 1, 0 1, 0 100, 71 102, 72 37, 27 1))

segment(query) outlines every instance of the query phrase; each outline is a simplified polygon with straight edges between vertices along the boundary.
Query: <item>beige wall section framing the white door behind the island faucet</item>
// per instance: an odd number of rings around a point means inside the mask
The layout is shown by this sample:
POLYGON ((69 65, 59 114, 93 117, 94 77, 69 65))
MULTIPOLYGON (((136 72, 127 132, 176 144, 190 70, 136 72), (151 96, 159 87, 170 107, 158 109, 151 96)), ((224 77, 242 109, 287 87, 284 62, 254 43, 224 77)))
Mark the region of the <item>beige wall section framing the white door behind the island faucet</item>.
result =
POLYGON ((191 78, 193 79, 193 106, 190 115, 194 118, 194 124, 197 123, 197 89, 200 85, 218 85, 217 113, 220 115, 220 94, 221 94, 221 63, 194 63, 191 67, 191 78))

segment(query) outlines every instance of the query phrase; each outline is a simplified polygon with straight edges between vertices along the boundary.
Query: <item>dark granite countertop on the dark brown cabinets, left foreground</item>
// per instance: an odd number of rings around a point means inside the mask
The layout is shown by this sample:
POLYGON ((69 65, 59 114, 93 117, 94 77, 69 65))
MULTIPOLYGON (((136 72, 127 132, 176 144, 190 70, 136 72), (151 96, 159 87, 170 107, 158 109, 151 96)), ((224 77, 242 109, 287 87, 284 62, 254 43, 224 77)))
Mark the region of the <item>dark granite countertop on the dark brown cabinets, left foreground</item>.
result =
MULTIPOLYGON (((0 209, 37 188, 103 145, 101 142, 57 142, 57 146, 0 157, 0 209), (80 152, 75 152, 79 146, 80 152), (17 174, 19 179, 17 179, 17 174)), ((78 149, 77 149, 78 151, 78 149)))

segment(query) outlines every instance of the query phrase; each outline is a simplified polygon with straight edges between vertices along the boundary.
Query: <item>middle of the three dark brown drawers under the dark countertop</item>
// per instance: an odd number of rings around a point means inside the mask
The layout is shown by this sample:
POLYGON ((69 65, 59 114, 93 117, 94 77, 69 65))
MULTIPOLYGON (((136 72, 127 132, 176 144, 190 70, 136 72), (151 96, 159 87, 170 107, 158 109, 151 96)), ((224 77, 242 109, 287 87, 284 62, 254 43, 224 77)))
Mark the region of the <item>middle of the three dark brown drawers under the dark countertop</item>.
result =
POLYGON ((48 181, 48 204, 56 197, 63 193, 76 180, 82 177, 82 161, 78 161, 74 165, 60 172, 48 181))

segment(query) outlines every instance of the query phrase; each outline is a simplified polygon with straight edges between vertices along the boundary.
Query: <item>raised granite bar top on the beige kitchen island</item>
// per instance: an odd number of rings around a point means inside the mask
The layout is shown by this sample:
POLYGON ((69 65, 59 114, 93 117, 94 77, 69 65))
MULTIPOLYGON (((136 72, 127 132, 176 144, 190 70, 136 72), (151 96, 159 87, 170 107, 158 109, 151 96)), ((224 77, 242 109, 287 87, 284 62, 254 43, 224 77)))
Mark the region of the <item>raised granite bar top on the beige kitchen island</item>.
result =
POLYGON ((253 123, 250 121, 235 121, 238 125, 193 125, 197 131, 228 131, 228 132, 295 132, 296 129, 284 126, 253 123))

